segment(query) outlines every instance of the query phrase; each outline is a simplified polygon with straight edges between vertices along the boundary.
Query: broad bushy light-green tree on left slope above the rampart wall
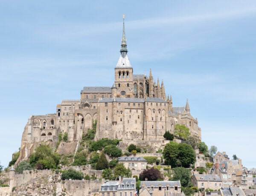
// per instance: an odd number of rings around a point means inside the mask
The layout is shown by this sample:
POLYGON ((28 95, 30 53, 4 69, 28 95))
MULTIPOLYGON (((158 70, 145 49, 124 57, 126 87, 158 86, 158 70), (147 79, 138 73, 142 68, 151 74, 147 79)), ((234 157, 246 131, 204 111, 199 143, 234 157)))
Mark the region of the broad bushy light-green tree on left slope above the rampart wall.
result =
POLYGON ((32 167, 35 165, 41 165, 38 169, 51 169, 56 168, 59 164, 61 156, 58 153, 54 153, 50 146, 41 144, 35 148, 35 153, 32 153, 29 157, 29 163, 32 167))

